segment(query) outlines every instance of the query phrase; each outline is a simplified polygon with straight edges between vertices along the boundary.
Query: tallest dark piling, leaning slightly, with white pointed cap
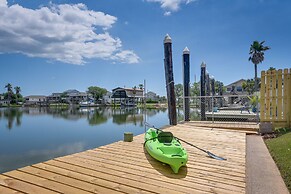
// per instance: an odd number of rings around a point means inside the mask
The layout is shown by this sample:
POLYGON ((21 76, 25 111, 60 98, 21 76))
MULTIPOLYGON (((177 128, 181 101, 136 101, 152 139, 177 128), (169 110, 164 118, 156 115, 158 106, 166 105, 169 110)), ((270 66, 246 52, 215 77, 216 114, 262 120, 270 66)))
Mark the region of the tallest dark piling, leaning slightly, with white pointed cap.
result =
POLYGON ((172 60, 172 39, 167 34, 164 39, 164 66, 166 76, 166 90, 168 98, 168 110, 170 125, 177 125, 176 96, 174 89, 173 60, 172 60))

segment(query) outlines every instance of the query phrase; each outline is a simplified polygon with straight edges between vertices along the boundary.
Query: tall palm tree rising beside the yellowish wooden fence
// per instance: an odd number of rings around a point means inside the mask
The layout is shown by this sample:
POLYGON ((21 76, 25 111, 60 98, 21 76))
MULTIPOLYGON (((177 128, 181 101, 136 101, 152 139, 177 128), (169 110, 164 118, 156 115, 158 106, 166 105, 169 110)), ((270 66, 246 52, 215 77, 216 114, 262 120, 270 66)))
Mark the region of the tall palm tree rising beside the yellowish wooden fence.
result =
POLYGON ((270 47, 264 46, 265 41, 259 42, 254 41, 250 47, 249 61, 252 61, 255 65, 255 91, 258 88, 258 76, 257 76, 257 65, 264 61, 264 51, 269 50, 270 47))

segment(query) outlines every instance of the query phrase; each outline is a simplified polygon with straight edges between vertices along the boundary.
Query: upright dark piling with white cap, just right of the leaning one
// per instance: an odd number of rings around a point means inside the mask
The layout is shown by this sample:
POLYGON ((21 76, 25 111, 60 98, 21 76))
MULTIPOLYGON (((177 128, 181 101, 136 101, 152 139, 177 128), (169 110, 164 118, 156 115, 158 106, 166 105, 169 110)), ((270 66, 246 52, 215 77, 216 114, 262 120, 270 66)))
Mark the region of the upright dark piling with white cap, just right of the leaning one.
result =
POLYGON ((184 120, 190 121, 190 51, 183 50, 183 94, 184 94, 184 120))

